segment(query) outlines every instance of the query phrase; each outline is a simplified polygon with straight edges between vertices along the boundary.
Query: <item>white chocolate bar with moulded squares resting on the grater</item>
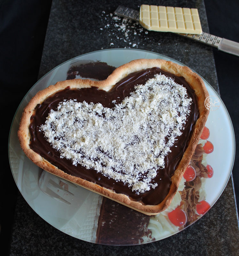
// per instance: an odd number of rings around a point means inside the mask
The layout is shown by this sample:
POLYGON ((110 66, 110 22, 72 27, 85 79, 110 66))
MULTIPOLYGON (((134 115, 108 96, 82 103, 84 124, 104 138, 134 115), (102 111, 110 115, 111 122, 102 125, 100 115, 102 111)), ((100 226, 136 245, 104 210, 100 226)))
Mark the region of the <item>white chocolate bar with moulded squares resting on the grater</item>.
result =
POLYGON ((142 4, 139 23, 148 30, 201 34, 197 9, 142 4))

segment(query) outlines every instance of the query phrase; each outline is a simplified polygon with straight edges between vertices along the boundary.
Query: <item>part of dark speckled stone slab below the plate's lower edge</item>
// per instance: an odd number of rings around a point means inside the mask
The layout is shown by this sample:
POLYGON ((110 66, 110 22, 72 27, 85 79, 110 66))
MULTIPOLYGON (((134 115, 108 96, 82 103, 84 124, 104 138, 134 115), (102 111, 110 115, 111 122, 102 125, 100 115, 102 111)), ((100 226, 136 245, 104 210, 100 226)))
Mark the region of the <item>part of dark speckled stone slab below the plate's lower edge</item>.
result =
POLYGON ((238 225, 231 179, 219 200, 180 233, 150 244, 107 246, 68 236, 39 217, 19 194, 11 256, 19 255, 238 255, 238 225))

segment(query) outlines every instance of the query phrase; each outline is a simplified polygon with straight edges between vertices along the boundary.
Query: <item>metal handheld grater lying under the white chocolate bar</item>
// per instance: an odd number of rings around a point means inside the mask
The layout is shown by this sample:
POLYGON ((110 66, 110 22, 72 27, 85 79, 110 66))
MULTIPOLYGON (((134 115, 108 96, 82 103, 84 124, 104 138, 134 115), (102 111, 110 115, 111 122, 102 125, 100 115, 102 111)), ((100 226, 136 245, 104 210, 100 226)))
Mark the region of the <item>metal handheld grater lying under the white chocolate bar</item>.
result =
MULTIPOLYGON (((139 11, 124 7, 122 5, 119 5, 117 9, 115 10, 114 14, 117 16, 122 16, 127 19, 135 20, 139 22, 139 11)), ((199 41, 204 44, 208 44, 211 46, 214 46, 218 48, 219 51, 227 52, 234 54, 236 56, 239 56, 239 43, 228 40, 226 38, 222 38, 219 36, 213 36, 211 34, 208 34, 206 32, 202 32, 200 35, 194 35, 194 34, 181 34, 181 33, 175 33, 180 36, 185 36, 191 39, 194 39, 196 41, 199 41)))

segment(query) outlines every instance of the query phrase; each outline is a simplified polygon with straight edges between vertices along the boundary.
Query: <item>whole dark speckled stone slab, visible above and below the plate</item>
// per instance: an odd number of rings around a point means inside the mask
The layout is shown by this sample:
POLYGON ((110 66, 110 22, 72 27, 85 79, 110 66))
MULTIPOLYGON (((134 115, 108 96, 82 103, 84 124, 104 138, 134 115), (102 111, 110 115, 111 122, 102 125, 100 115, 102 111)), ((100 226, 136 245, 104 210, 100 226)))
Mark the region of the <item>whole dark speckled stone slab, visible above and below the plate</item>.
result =
MULTIPOLYGON (((158 5, 159 2, 122 0, 85 4, 84 1, 53 1, 39 78, 78 55, 100 49, 131 47, 158 52, 181 61, 219 92, 210 46, 172 33, 147 33, 143 29, 139 35, 138 27, 128 32, 126 38, 110 17, 110 13, 120 4, 139 9, 141 4, 158 5), (134 35, 134 30, 137 35, 134 35), (136 45, 132 47, 133 44, 136 45)), ((198 8, 203 31, 208 32, 203 1, 170 0, 160 1, 160 5, 198 8)), ((19 193, 10 255, 238 255, 238 239, 231 179, 211 210, 192 226, 158 242, 121 247, 91 244, 62 233, 39 217, 19 193)))

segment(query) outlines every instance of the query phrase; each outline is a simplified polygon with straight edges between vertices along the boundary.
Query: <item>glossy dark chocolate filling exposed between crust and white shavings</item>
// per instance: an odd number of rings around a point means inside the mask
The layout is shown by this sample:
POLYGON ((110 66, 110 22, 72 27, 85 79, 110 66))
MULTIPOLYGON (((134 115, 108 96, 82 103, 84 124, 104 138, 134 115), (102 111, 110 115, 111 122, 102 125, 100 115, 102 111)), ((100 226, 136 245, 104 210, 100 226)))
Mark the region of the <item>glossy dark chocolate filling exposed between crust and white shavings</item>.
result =
POLYGON ((102 187, 112 189, 116 193, 125 194, 132 200, 141 201, 148 205, 156 205, 161 203, 169 192, 171 176, 174 174, 187 148, 198 117, 197 97, 194 90, 183 77, 174 76, 160 68, 148 68, 129 74, 115 84, 108 92, 99 90, 97 87, 81 89, 66 88, 48 97, 43 103, 36 106, 35 112, 31 116, 29 126, 31 136, 30 148, 63 172, 94 182, 102 187), (184 124, 182 135, 177 137, 174 145, 170 148, 171 152, 165 156, 165 167, 157 171, 154 182, 157 183, 158 186, 154 189, 138 194, 136 191, 132 191, 132 189, 122 181, 116 181, 93 169, 86 169, 80 164, 73 165, 70 159, 60 157, 60 153, 52 147, 44 137, 44 133, 40 131, 40 127, 45 123, 51 109, 56 110, 58 104, 63 100, 76 99, 78 102, 101 103, 103 107, 113 108, 115 104, 121 103, 125 97, 130 96, 130 93, 134 91, 134 87, 137 84, 145 84, 148 79, 160 73, 171 77, 177 84, 186 87, 187 97, 192 99, 192 103, 189 107, 190 114, 187 116, 187 122, 184 124), (112 103, 113 100, 115 100, 116 103, 112 103))

